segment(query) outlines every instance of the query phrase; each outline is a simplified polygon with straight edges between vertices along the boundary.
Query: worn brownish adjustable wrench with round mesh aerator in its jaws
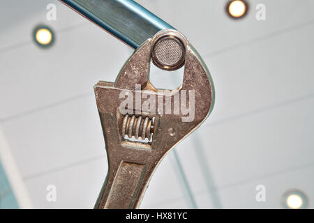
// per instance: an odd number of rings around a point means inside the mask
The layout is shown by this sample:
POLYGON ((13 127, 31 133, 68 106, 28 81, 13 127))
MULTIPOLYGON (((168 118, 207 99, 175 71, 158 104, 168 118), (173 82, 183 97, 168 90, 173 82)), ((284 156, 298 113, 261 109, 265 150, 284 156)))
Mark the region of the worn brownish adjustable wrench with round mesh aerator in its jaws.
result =
POLYGON ((211 112, 209 71, 181 33, 163 30, 137 48, 114 83, 100 81, 94 89, 108 159, 95 208, 138 208, 163 157, 211 112), (165 70, 184 65, 179 89, 155 89, 151 59, 165 70))

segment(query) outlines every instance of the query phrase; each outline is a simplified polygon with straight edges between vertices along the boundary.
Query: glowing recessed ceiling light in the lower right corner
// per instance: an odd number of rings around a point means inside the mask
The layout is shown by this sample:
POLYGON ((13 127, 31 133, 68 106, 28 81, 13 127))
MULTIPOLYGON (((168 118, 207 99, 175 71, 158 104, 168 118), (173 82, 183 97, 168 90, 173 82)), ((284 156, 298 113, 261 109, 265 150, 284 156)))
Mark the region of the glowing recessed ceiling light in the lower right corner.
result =
POLYGON ((303 209, 307 206, 306 195, 299 191, 290 191, 283 197, 283 205, 288 209, 303 209))

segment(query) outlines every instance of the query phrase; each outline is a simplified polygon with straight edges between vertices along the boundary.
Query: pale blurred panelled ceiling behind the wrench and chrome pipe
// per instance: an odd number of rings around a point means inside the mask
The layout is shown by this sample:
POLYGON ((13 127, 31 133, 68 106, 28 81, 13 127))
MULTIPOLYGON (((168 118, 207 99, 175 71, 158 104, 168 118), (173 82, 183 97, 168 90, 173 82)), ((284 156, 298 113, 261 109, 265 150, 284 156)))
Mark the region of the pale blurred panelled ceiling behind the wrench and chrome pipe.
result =
MULTIPOLYGON (((238 19, 227 0, 137 2, 186 35, 216 88, 140 208, 314 208, 314 1, 248 0, 238 19)), ((107 174, 93 86, 133 49, 57 0, 0 1, 0 17, 0 208, 93 208, 107 174)), ((151 68, 158 88, 182 75, 151 68)))

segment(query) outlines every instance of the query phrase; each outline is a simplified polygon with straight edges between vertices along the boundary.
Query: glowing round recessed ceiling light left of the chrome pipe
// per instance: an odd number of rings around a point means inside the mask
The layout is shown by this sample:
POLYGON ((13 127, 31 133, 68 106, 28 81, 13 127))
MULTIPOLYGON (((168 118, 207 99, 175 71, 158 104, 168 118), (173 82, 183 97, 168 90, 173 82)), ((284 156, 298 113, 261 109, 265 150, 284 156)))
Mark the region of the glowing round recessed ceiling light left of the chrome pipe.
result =
POLYGON ((33 30, 33 40, 40 47, 50 47, 54 43, 54 33, 47 26, 36 26, 33 30))

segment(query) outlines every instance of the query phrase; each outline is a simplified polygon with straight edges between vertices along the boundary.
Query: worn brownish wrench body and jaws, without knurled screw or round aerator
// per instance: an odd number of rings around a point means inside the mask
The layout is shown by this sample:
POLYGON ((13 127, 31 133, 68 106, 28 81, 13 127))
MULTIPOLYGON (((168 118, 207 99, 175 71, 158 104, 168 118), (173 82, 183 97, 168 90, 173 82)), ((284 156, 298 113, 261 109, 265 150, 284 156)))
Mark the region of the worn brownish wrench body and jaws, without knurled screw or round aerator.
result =
MULTIPOLYGON (((107 178, 95 208, 138 208, 149 180, 163 157, 193 132, 207 118, 214 106, 214 85, 209 71, 189 43, 186 45, 181 87, 173 91, 156 90, 149 82, 151 45, 152 40, 148 39, 130 56, 114 83, 100 81, 94 86, 108 160, 107 178), (121 114, 120 106, 124 98, 119 95, 121 91, 126 90, 135 95, 138 93, 137 86, 141 86, 142 91, 149 90, 145 91, 149 97, 162 97, 163 111, 167 102, 171 101, 170 114, 147 114, 147 111, 136 114, 137 117, 155 118, 152 139, 148 143, 130 141, 121 133, 121 118, 126 114, 121 114), (193 93, 190 94, 190 91, 193 93), (179 113, 174 111, 176 94, 182 95, 184 92, 188 95, 186 105, 194 107, 190 121, 183 121, 186 114, 181 109, 179 113)), ((134 101, 133 108, 136 107, 135 103, 134 101)), ((143 103, 140 102, 140 108, 143 103)), ((135 111, 130 109, 129 112, 135 111)))

